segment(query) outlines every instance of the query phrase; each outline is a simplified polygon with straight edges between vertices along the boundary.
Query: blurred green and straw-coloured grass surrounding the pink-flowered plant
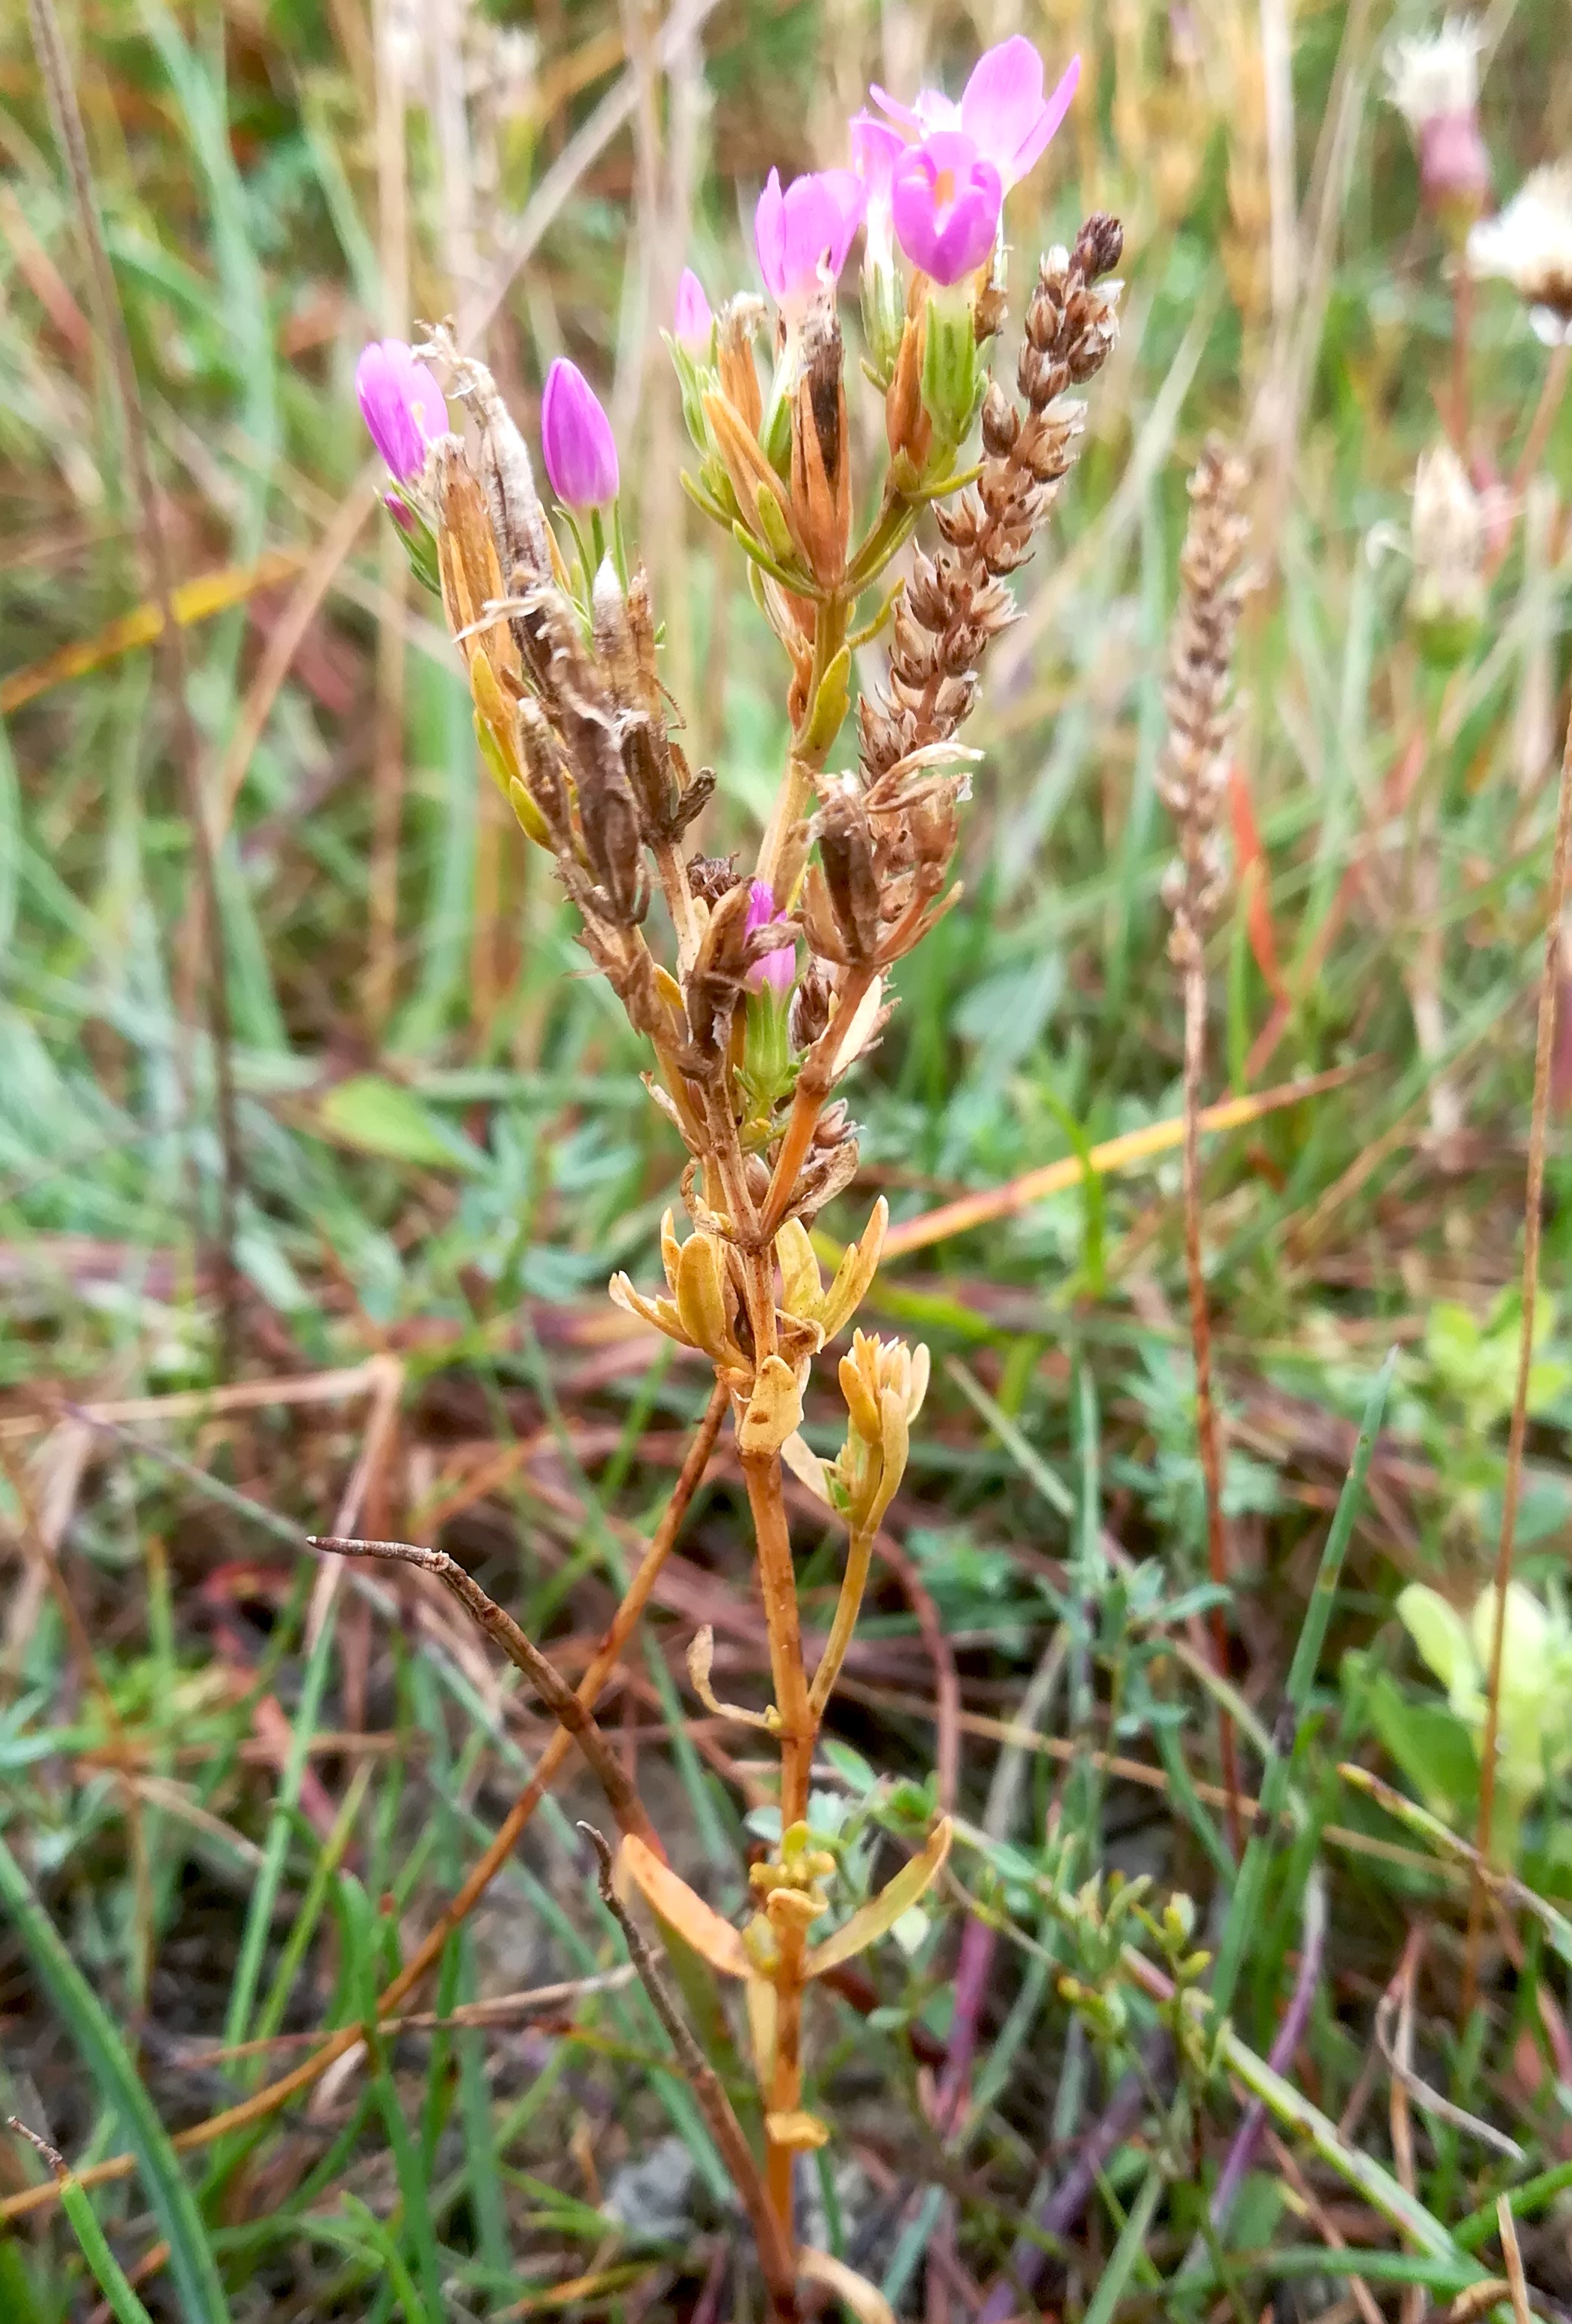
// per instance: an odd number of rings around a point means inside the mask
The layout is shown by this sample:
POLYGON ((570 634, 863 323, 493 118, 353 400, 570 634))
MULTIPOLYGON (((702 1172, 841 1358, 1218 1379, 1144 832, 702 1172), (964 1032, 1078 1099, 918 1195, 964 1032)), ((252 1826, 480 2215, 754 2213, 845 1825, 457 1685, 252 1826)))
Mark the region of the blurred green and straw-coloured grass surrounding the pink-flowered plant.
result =
MULTIPOLYGON (((1395 2315, 1405 2284, 1446 2301, 1498 2268, 1498 2189, 1516 2189, 1525 2222, 1553 2222, 1565 2187, 1565 1980, 1546 1971, 1537 1924, 1519 1931, 1521 1961, 1486 1957, 1481 2006, 1458 2033, 1467 1892, 1335 1769, 1365 1759, 1414 1787, 1388 1748, 1421 1727, 1391 1722, 1442 1699, 1391 1601, 1416 1576, 1472 1599, 1495 1545, 1516 1360, 1516 1318, 1498 1299, 1519 1281, 1567 709, 1572 418, 1558 409, 1535 479, 1537 546, 1502 502, 1486 623, 1439 681, 1405 616, 1407 555, 1381 551, 1407 528, 1414 462, 1451 393, 1442 249, 1419 214, 1407 132, 1379 102, 1386 33, 1425 12, 1328 0, 1291 19, 1302 295, 1281 332, 1253 128, 1260 14, 1242 9, 1228 30, 1230 14, 1219 0, 1170 23, 1146 0, 1053 0, 1023 26, 1049 56, 1079 44, 1086 79, 1049 165, 1012 205, 1014 309, 1037 246, 1067 239, 1095 205, 1126 221, 1126 332, 1093 383, 1086 456, 1021 576, 1023 621, 995 651, 967 734, 986 765, 965 811, 965 897, 898 976, 900 1009, 853 1097, 863 1176, 826 1227, 858 1232, 877 1190, 900 1220, 1177 1113, 1179 995, 1158 895, 1172 834, 1153 792, 1163 658, 1186 472, 1207 428, 1249 437, 1263 586, 1239 648, 1237 755, 1293 1004, 1272 1055, 1251 1064, 1272 990, 1235 902, 1209 955, 1207 1095, 1367 1067, 1207 1157, 1232 1685, 1251 1796, 1288 1813, 1251 1841, 1230 1906, 1216 1708, 1177 1652, 1207 1611, 1177 1155, 891 1267, 874 1320, 935 1353, 895 1532, 956 1655, 972 1722, 958 1808, 974 1845, 958 1850, 956 1887, 930 1894, 912 1950, 872 1957, 872 2015, 814 1996, 809 2078, 835 2126, 823 2240, 884 2282, 902 2317, 942 2301, 960 2315, 958 2287, 1007 2282, 1012 2250, 1042 2240, 1035 2222, 1077 2140, 1167 2022, 1114 1938, 1172 1964, 1135 1922, 1109 1934, 1109 1873, 1151 1875, 1153 1913, 1174 1889, 1195 1896, 1198 1943, 1219 1952, 1198 1989, 1226 1985, 1232 2031, 1219 2050, 1202 2029, 1177 2085, 1153 2078, 1142 2094, 1056 2250, 1058 2273, 1039 2280, 1051 2308, 1091 2324, 1200 2319, 1221 2287, 1235 2315, 1253 2315, 1291 2296, 1274 2287, 1312 2278, 1293 2291, 1307 2303, 1295 2315, 1309 2315, 1358 2271, 1395 2315), (1328 123, 1344 88, 1339 142, 1328 123), (1300 390, 1286 451, 1263 402, 1279 346, 1300 390), (1400 799, 1416 737, 1423 767, 1400 799), (1416 867, 1430 851, 1428 897, 1416 867), (1437 930, 1442 1046, 1421 1053, 1409 985, 1437 930), (1463 1120, 1451 1146, 1428 1134, 1437 1083, 1463 1120), (1365 1494, 1332 1522, 1388 1346, 1386 1434, 1365 1494), (1056 1634, 1063 1678, 1035 1699, 1042 1736, 1063 1750, 1023 1752, 1014 1822, 988 1829, 993 1727, 1014 1717, 1056 1634), (1251 1722, 1274 1734, 1284 1701, 1298 1729, 1291 1748, 1277 1731, 1263 1764, 1251 1722), (1163 1787, 1109 1771, 1100 1750, 1156 1769, 1163 1787), (1277 2071, 1265 2059, 1314 1866, 1330 1882, 1328 1961, 1298 2057, 1277 2071), (1098 1896, 1081 1896, 1098 1873, 1098 1896), (949 2033, 965 1896, 995 1929, 995 1954, 974 2106, 946 2152, 919 2068, 949 2033), (1363 2075, 1379 1996, 1419 1922, 1430 1941, 1414 2071, 1507 2131, 1523 2161, 1414 2096, 1407 2185, 1386 2068, 1374 2087, 1363 2075), (1100 1992, 1102 2010, 1077 2013, 1065 1975, 1100 1992), (1363 2205, 1349 2240, 1374 2250, 1328 2254, 1321 2217, 1300 2208, 1265 2140, 1207 2245, 1237 2085, 1267 2099, 1316 2205, 1337 2219, 1363 2205)), ((502 9, 495 21, 523 26, 502 9)), ((1565 149, 1572 67, 1556 0, 1491 21, 1484 123, 1509 193, 1565 149)), ((474 14, 472 42, 488 26, 474 14)), ((470 191, 484 246, 500 209, 498 244, 519 214, 537 232, 530 193, 616 86, 619 26, 605 7, 537 12, 535 79, 509 119, 488 109, 491 91, 514 88, 495 56, 477 70, 470 191), (544 93, 537 119, 530 91, 544 93)), ((270 548, 309 558, 360 472, 351 370, 384 300, 367 16, 353 0, 321 12, 102 0, 72 35, 179 576, 270 548)), ((686 130, 679 86, 665 119, 672 137, 698 139, 684 239, 714 297, 751 281, 744 225, 770 163, 786 174, 826 158, 837 107, 867 77, 905 74, 907 56, 958 86, 977 35, 944 9, 879 19, 723 0, 700 42, 714 105, 686 130)), ((430 93, 421 72, 407 114, 421 316, 453 304, 430 93)), ((0 139, 2 686, 98 637, 147 597, 147 576, 23 19, 0 30, 0 139)), ((546 223, 488 349, 528 428, 558 349, 612 390, 623 469, 642 479, 626 514, 656 572, 672 690, 693 753, 719 772, 700 839, 723 853, 751 844, 772 795, 779 672, 730 544, 674 490, 658 349, 642 381, 630 372, 633 188, 623 130, 546 223)), ((1544 374, 1514 297, 1484 286, 1470 360, 1481 481, 1514 474, 1544 374)), ((856 425, 872 430, 877 409, 858 407, 856 425)), ((270 709, 219 862, 240 1373, 295 1383, 295 1401, 140 1411, 86 1446, 72 1436, 67 1406, 216 1385, 207 1264, 223 1164, 214 1060, 184 1004, 193 851, 165 679, 147 651, 105 658, 0 725, 0 1494, 14 1543, 0 1648, 0 2113, 74 2168, 135 2157, 130 2175, 77 2194, 98 2245, 58 2210, 0 2240, 0 2310, 28 2324, 88 2315, 100 2296, 88 2278, 116 2315, 142 2301, 156 2324, 435 2324, 500 2315, 577 2278, 600 2284, 586 2312, 679 2319, 730 2238, 716 2152, 656 2017, 637 1987, 602 1982, 621 1950, 574 1834, 574 1815, 595 1813, 577 1778, 409 2008, 451 2020, 484 1994, 581 1989, 526 2003, 505 2027, 379 2036, 316 2113, 295 2103, 216 2147, 179 2150, 184 2129, 295 2064, 298 2036, 365 2022, 546 1738, 512 1673, 444 1606, 398 1597, 386 1576, 351 1576, 333 1624, 307 1638, 316 1566, 302 1536, 333 1522, 367 1406, 363 1392, 300 1383, 374 1353, 402 1362, 398 1434, 358 1522, 412 1538, 440 1529, 572 1676, 612 1611, 623 1529, 656 1522, 705 1397, 681 1360, 649 1369, 630 1348, 619 1367, 607 1353, 605 1278, 628 1267, 649 1281, 679 1155, 642 1092, 637 1043, 581 974, 567 906, 507 839, 505 974, 495 1006, 477 1002, 481 776, 458 665, 426 604, 407 618, 395 990, 381 1020, 367 1009, 384 574, 367 525, 270 709), (246 2040, 272 2047, 212 2059, 246 2040), (667 2166, 679 2192, 660 2203, 651 2173, 667 2166), (167 2259, 142 2273, 165 2243, 167 2259)), ((286 602, 288 583, 274 586, 186 632, 209 774, 286 602)), ((1549 1387, 1519 1522, 1519 1571, 1539 1585, 1565 1564, 1572 1511, 1560 1111, 1551 1129, 1549 1387)), ((809 1401, 809 1436, 830 1418, 828 1397, 809 1401)), ((746 1729, 691 1720, 681 1657, 698 1620, 714 1620, 728 1655, 719 1692, 756 1699, 744 1538, 735 1478, 716 1464, 684 1536, 688 1594, 656 1608, 605 1713, 614 1731, 633 1729, 651 1813, 721 1908, 742 1896, 760 1766, 746 1729)), ((798 1557, 828 1620, 839 1545, 800 1522, 798 1557)), ((874 1878, 888 1875, 884 1824, 912 1831, 926 1815, 935 1724, 914 1703, 933 1701, 935 1671, 893 1578, 879 1580, 863 1638, 821 1815, 874 1878)), ((1521 1873, 1549 1910, 1572 1892, 1563 1808, 1558 1776, 1521 1843, 1521 1873)), ((705 2036, 756 2129, 739 2027, 712 2010, 705 2036)), ((23 2143, 0 2152, 0 2196, 42 2175, 23 2143)), ((1523 2257, 1539 2296, 1565 2301, 1553 2233, 1525 2226, 1523 2257)), ((728 2280, 707 2312, 742 2317, 744 2298, 728 2280)))

